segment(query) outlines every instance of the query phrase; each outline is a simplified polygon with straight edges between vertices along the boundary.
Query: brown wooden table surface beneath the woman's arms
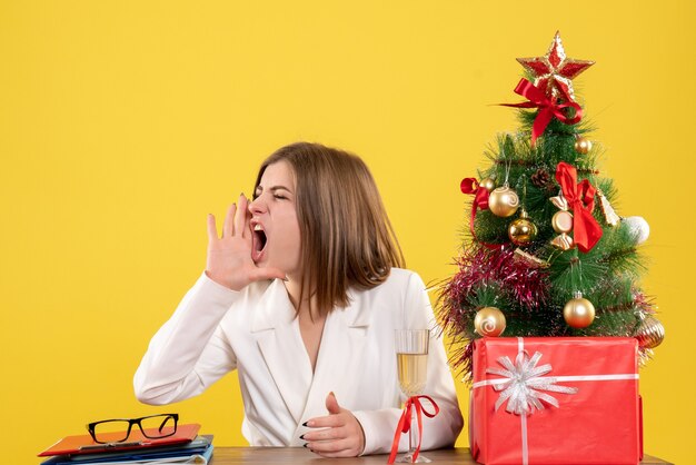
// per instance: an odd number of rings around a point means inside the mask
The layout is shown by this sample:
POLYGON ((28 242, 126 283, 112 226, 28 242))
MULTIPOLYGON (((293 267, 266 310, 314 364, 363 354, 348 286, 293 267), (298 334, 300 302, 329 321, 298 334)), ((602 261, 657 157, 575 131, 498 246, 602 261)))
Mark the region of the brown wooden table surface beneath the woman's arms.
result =
MULTIPOLYGON (((426 457, 432 459, 434 465, 475 465, 468 448, 449 448, 439 451, 425 451, 426 457)), ((369 455, 355 458, 324 458, 304 447, 216 447, 212 453, 211 465, 231 464, 311 464, 326 465, 337 463, 350 464, 386 464, 387 455, 369 455)), ((642 464, 669 464, 656 457, 646 455, 642 464)))

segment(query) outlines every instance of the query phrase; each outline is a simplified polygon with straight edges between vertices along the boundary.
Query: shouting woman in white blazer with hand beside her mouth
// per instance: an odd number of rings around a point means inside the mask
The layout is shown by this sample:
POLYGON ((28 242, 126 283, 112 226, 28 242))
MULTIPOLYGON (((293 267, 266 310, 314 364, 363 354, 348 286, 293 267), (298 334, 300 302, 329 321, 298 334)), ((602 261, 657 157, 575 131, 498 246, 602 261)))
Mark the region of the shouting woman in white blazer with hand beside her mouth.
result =
MULTIPOLYGON (((435 319, 421 279, 399 268, 365 164, 316 144, 284 147, 221 236, 208 217, 208 236, 206 270, 152 338, 137 397, 182 400, 237 369, 252 446, 388 453, 404 399, 394 330, 435 319)), ((454 444, 463 426, 443 342, 430 340, 424 393, 440 413, 425 418, 424 449, 454 444)))

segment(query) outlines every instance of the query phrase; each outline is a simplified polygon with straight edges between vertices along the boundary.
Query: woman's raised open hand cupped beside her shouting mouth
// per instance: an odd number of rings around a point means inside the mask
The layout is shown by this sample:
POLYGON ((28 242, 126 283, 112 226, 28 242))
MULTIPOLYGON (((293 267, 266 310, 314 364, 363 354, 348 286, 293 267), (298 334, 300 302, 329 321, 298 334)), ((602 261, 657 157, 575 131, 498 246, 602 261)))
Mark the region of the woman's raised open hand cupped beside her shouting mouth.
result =
POLYGON ((213 281, 232 290, 241 290, 249 284, 264 279, 285 279, 278 268, 259 268, 251 259, 251 230, 249 228, 248 200, 239 196, 239 206, 230 205, 222 225, 222 236, 213 215, 208 215, 208 258, 206 275, 213 281))

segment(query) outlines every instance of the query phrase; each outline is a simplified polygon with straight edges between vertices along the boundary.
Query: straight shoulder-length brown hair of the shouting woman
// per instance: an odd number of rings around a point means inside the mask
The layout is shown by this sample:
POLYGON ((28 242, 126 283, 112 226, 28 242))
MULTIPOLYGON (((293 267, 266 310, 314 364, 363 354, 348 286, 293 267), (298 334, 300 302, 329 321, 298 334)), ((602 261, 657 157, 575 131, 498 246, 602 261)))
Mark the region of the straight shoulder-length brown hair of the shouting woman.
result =
POLYGON ((286 161, 296 181, 300 227, 301 293, 316 298, 320 314, 349 304, 350 287, 372 288, 404 255, 365 162, 347 151, 297 142, 278 149, 261 167, 286 161))

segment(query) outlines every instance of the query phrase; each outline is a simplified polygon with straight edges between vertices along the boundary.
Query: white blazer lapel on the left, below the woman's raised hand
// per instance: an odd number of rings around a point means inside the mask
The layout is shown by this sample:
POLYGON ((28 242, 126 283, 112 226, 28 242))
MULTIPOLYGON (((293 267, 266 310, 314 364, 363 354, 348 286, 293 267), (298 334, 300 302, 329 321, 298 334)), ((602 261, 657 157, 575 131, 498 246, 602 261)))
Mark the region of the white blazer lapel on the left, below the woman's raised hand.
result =
POLYGON ((312 374, 295 308, 278 279, 269 286, 259 304, 251 332, 258 334, 259 350, 278 393, 296 423, 300 423, 312 374))

